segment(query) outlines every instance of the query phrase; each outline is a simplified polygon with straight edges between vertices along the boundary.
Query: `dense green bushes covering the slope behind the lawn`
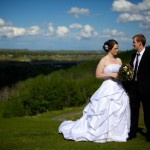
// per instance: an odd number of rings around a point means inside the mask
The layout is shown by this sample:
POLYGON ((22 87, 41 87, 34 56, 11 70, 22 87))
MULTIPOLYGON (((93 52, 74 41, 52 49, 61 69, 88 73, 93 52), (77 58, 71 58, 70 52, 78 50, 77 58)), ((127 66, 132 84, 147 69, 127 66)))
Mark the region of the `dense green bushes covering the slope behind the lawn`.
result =
POLYGON ((16 84, 5 100, 3 117, 36 115, 87 103, 100 84, 90 66, 91 62, 16 84))

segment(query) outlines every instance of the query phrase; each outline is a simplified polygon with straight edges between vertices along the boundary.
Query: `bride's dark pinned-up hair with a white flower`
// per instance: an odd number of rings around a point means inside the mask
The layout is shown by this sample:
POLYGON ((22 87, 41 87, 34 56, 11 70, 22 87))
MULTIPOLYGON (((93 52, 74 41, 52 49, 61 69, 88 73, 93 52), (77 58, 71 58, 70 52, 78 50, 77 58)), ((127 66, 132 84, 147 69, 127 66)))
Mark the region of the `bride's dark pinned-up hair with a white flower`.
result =
POLYGON ((104 43, 103 49, 106 52, 109 52, 114 47, 115 44, 118 44, 118 42, 114 39, 110 39, 104 43))

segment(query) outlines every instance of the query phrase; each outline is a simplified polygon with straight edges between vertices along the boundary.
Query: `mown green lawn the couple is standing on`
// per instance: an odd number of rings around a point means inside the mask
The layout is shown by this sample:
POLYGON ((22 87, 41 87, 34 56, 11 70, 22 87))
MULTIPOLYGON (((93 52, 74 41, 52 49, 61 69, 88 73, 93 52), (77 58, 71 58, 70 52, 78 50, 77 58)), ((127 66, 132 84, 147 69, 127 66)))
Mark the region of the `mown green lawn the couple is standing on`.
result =
MULTIPOLYGON (((74 142, 68 141, 58 133, 62 119, 76 120, 83 107, 52 111, 33 117, 0 118, 0 150, 148 150, 150 143, 138 133, 137 137, 128 142, 74 142), (68 115, 72 114, 72 115, 68 115), (65 117, 67 116, 67 118, 65 117), (59 116, 59 117, 58 117, 59 116)), ((140 126, 144 127, 143 114, 140 114, 140 126)))

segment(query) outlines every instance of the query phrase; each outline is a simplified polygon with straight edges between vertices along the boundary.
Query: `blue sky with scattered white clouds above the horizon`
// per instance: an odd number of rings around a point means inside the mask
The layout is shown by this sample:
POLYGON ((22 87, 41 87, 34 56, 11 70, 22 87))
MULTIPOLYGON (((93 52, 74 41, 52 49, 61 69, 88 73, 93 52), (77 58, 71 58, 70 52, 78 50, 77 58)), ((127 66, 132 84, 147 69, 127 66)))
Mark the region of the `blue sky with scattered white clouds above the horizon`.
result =
POLYGON ((138 33, 150 45, 149 0, 0 1, 0 48, 101 50, 115 39, 130 50, 138 33))

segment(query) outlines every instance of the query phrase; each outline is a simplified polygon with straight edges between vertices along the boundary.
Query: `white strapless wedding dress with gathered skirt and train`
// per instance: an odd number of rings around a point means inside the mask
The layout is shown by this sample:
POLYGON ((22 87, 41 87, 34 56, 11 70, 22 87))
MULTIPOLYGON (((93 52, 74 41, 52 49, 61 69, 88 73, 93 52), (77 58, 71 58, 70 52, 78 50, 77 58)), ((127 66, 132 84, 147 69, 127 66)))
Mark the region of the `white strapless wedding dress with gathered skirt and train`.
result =
MULTIPOLYGON (((118 72, 119 64, 110 64, 105 73, 118 72)), ((106 79, 92 95, 76 121, 63 121, 59 133, 74 141, 126 142, 130 129, 129 98, 118 80, 106 79)))

